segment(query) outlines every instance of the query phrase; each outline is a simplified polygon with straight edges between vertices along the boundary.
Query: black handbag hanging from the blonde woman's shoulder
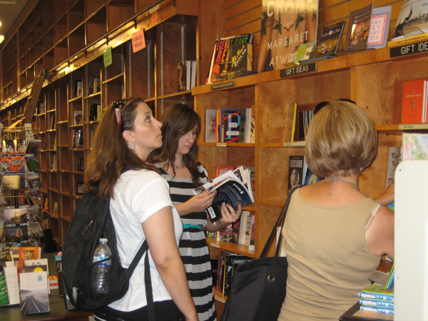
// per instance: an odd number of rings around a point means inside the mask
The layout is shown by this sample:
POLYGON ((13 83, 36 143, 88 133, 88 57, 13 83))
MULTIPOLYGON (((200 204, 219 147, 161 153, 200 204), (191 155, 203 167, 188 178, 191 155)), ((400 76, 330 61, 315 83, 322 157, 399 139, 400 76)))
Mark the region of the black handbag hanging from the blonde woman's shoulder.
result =
POLYGON ((281 226, 282 230, 291 195, 298 187, 290 190, 260 258, 236 269, 220 321, 277 321, 285 299, 288 263, 286 257, 278 257, 281 242, 277 243, 275 257, 265 258, 265 255, 276 228, 281 226))

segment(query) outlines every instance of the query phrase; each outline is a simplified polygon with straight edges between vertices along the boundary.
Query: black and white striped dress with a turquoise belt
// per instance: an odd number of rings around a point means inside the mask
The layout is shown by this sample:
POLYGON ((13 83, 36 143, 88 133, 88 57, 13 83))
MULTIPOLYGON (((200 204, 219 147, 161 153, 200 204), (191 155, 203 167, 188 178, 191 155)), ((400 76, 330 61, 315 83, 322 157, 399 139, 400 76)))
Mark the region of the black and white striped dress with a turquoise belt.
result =
MULTIPOLYGON (((200 182, 208 182, 208 170, 201 163, 197 163, 200 173, 200 182)), ((161 175, 168 181, 170 197, 175 205, 185 203, 194 195, 195 186, 191 178, 173 178, 160 165, 161 175)), ((181 216, 183 225, 207 224, 207 213, 190 213, 181 216)), ((213 295, 213 274, 211 271, 210 253, 203 230, 198 228, 184 228, 180 240, 180 255, 185 266, 190 294, 195 302, 200 321, 217 320, 213 295)))

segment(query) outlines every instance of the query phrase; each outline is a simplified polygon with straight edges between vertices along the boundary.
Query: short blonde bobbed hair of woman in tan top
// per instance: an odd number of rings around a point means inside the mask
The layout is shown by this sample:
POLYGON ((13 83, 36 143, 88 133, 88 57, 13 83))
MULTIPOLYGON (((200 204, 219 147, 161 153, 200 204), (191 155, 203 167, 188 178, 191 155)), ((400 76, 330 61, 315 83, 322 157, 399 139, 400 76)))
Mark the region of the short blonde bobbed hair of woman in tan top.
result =
POLYGON ((357 174, 376 153, 376 125, 355 103, 330 101, 310 122, 305 155, 317 176, 357 174))

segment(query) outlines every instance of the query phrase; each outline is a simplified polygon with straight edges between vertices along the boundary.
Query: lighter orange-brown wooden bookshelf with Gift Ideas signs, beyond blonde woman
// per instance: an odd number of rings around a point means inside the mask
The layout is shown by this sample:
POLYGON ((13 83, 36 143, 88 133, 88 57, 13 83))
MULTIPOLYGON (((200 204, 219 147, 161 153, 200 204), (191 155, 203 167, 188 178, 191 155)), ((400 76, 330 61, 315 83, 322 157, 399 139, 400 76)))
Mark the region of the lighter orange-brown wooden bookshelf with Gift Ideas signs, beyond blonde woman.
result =
POLYGON ((389 48, 384 48, 317 62, 317 71, 302 76, 281 78, 280 71, 268 71, 235 79, 233 88, 193 89, 195 111, 203 119, 205 109, 255 107, 255 144, 204 143, 203 132, 198 142, 200 161, 210 176, 215 175, 216 165, 255 165, 255 257, 287 199, 288 158, 305 154, 305 143, 291 142, 294 102, 307 109, 320 101, 351 98, 374 120, 378 155, 360 176, 359 185, 362 193, 375 198, 384 191, 388 147, 401 146, 404 131, 428 130, 427 124, 399 124, 402 82, 428 78, 420 68, 427 62, 428 54, 389 58, 389 48))

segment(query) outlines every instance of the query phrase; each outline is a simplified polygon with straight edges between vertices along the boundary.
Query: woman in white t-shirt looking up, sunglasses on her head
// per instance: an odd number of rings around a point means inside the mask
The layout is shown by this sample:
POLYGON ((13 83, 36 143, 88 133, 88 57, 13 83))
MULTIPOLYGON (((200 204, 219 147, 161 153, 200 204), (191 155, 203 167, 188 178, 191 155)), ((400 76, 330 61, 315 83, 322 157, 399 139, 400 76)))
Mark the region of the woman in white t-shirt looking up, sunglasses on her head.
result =
MULTIPOLYGON (((110 198, 123 267, 130 265, 147 240, 156 320, 196 321, 178 252, 183 225, 170 200, 168 183, 146 163, 151 151, 162 146, 161 126, 141 98, 113 102, 96 129, 83 189, 110 198)), ((148 320, 144 258, 133 272, 126 295, 93 315, 96 320, 148 320)))

